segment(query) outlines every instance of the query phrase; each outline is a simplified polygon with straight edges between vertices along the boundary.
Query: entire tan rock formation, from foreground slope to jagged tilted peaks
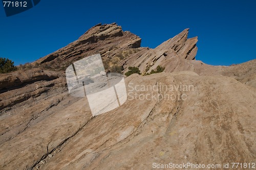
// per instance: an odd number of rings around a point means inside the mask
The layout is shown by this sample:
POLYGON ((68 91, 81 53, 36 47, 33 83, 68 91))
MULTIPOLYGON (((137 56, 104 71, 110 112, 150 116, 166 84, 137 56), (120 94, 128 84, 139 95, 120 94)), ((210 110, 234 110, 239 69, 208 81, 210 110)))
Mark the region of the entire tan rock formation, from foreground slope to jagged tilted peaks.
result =
POLYGON ((185 29, 150 49, 116 24, 99 24, 35 61, 39 68, 1 74, 0 169, 256 163, 256 60, 206 65, 195 59, 197 37, 187 35, 185 29), (68 93, 65 73, 40 67, 96 53, 124 73, 158 65, 165 72, 126 77, 127 101, 92 117, 87 98, 68 93))

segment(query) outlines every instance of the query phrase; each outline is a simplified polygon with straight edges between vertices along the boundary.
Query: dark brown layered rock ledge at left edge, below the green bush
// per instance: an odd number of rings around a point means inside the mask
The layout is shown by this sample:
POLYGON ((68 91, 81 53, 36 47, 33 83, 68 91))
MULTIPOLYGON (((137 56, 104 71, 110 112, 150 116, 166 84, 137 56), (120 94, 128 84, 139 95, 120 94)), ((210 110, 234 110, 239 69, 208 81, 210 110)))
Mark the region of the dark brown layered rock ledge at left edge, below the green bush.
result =
POLYGON ((53 89, 64 90, 65 83, 63 74, 54 71, 32 69, 3 74, 0 78, 0 111, 53 89))

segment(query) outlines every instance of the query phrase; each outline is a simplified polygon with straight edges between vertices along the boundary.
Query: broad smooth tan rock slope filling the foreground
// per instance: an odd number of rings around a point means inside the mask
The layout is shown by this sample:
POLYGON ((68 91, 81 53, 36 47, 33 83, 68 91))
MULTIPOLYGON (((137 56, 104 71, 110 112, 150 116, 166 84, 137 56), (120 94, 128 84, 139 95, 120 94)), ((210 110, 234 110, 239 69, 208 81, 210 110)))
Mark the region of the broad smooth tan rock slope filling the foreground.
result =
POLYGON ((86 99, 70 103, 64 100, 45 112, 48 116, 43 118, 36 118, 38 112, 34 109, 34 119, 28 123, 26 120, 31 118, 28 109, 27 114, 17 111, 14 115, 4 114, 1 132, 6 132, 0 141, 2 168, 149 169, 154 162, 223 164, 255 160, 253 88, 233 78, 198 76, 194 72, 132 75, 125 82, 127 87, 130 84, 127 91, 158 97, 140 100, 130 94, 120 108, 96 117, 91 116, 86 99), (131 88, 157 83, 193 88, 183 91, 131 88), (185 99, 163 97, 182 94, 185 99), (23 115, 22 122, 29 125, 15 134, 16 129, 24 127, 17 125, 20 120, 14 116, 18 115, 23 115))

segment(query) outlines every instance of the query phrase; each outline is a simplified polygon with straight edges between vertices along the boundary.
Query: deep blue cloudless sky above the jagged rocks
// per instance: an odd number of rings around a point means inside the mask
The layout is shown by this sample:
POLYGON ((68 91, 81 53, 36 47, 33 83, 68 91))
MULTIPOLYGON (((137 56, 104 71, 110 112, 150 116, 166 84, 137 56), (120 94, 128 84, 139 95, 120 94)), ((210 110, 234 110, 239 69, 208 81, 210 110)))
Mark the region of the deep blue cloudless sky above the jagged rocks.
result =
POLYGON ((196 59, 231 65, 256 58, 256 1, 66 1, 41 0, 6 17, 0 5, 0 57, 15 65, 34 61, 76 40, 98 23, 116 22, 155 48, 190 28, 198 36, 196 59))

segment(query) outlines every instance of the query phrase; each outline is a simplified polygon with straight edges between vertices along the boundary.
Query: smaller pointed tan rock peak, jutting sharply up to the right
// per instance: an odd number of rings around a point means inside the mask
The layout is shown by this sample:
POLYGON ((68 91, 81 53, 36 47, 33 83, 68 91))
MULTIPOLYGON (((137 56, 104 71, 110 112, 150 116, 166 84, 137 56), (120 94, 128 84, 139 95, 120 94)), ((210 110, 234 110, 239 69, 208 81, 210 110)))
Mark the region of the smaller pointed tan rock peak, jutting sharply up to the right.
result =
POLYGON ((188 29, 168 39, 155 49, 143 49, 124 60, 124 72, 130 66, 139 67, 143 73, 164 66, 167 72, 176 66, 173 60, 194 60, 197 54, 197 37, 187 39, 188 29))

